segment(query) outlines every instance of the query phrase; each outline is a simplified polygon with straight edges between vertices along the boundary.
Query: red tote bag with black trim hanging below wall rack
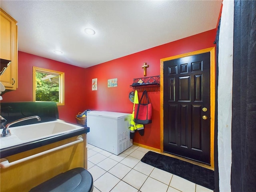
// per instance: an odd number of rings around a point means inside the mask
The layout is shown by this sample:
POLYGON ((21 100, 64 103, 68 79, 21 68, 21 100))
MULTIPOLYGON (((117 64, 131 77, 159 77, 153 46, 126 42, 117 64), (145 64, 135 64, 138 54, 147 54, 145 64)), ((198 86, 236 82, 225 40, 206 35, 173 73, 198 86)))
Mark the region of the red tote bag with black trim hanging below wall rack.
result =
POLYGON ((140 102, 134 106, 134 122, 143 125, 152 122, 152 104, 149 102, 146 90, 144 90, 140 102))

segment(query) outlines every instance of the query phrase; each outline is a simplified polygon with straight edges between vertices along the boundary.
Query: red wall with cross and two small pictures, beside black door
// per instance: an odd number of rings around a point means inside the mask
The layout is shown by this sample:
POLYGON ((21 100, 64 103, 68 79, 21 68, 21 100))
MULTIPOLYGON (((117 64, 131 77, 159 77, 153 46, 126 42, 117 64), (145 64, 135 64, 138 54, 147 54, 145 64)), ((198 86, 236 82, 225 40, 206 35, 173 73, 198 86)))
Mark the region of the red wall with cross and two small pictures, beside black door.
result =
MULTIPOLYGON (((142 52, 131 54, 90 68, 86 68, 85 90, 87 108, 132 113, 133 104, 128 99, 133 78, 143 77, 142 65, 146 62, 147 76, 160 75, 160 59, 213 47, 216 30, 170 42, 142 52), (92 79, 98 78, 98 90, 92 91, 92 79), (108 88, 108 79, 118 78, 118 86, 108 88)), ((142 92, 139 92, 139 98, 142 92)), ((144 126, 144 136, 135 134, 134 142, 160 149, 160 91, 148 92, 153 106, 152 124, 144 126)))

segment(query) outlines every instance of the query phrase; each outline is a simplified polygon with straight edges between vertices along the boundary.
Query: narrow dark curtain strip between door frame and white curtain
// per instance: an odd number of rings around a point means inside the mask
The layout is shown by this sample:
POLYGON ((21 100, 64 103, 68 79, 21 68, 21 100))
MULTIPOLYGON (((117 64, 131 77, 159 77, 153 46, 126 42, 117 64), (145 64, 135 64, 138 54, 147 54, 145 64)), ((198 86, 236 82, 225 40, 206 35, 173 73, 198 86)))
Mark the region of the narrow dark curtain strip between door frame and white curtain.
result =
MULTIPOLYGON (((220 19, 221 20, 221 19, 220 19)), ((218 98, 218 55, 219 55, 219 36, 220 36, 220 20, 218 24, 218 30, 216 33, 216 83, 215 83, 215 98, 218 98)), ((219 167, 218 167, 218 102, 215 102, 215 121, 214 121, 214 180, 215 189, 214 192, 219 192, 219 167)))

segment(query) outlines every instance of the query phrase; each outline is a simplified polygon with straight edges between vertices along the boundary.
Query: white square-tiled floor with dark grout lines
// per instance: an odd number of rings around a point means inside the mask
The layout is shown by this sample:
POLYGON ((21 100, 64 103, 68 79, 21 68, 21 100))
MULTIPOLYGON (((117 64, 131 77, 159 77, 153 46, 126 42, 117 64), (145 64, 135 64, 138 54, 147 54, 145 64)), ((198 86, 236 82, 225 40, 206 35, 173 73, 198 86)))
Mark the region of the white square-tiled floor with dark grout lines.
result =
POLYGON ((140 161, 148 149, 131 146, 114 155, 87 144, 94 192, 213 192, 140 161))

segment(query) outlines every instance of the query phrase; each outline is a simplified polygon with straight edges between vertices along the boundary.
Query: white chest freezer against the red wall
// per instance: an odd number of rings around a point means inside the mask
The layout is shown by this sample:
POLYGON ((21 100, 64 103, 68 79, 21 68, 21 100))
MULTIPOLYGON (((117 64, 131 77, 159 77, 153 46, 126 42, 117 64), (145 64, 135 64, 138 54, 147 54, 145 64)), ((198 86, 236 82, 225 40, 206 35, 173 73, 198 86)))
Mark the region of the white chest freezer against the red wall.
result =
POLYGON ((131 117, 132 114, 128 113, 88 111, 90 132, 87 133, 87 142, 116 155, 122 153, 132 146, 129 130, 131 117))

